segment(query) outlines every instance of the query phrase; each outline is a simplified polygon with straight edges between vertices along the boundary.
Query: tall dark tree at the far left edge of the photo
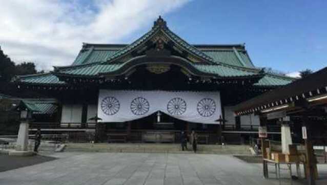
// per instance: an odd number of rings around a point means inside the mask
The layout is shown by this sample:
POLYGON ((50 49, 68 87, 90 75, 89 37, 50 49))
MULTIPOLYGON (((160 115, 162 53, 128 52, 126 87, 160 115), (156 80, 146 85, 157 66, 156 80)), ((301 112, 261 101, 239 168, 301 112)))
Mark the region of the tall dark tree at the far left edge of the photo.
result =
POLYGON ((15 63, 1 50, 0 47, 0 82, 9 82, 15 75, 15 63))

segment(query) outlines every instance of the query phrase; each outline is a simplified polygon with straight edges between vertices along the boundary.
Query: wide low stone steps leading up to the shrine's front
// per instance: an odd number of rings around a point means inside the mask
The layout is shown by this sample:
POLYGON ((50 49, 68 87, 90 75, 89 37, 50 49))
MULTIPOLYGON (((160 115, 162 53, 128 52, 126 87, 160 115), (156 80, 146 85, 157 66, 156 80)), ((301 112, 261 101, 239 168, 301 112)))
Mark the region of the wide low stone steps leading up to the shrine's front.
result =
MULTIPOLYGON (((191 145, 182 151, 180 144, 164 143, 67 143, 65 152, 193 153, 191 145)), ((251 155, 248 145, 199 144, 197 153, 251 155)))

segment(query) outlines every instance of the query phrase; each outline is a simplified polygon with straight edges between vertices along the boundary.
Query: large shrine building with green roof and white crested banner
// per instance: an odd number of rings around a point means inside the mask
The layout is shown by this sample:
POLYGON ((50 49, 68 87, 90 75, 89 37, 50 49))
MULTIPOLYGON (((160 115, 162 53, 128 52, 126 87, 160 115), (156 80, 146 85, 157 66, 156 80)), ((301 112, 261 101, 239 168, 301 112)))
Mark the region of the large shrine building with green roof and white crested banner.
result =
POLYGON ((179 142, 195 130, 200 142, 233 143, 259 126, 233 106, 294 80, 254 66, 244 44, 189 44, 159 17, 131 44, 84 43, 72 64, 13 82, 55 99, 56 119, 32 130, 92 133, 97 118, 104 142, 179 142))

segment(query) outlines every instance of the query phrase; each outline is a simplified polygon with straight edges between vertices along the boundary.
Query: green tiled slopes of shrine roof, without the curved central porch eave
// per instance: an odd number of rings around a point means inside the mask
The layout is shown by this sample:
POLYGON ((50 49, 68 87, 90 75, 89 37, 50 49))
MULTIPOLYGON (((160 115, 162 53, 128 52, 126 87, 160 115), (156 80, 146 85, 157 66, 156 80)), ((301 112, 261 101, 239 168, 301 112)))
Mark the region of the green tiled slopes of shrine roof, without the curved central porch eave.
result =
MULTIPOLYGON (((255 68, 243 44, 238 45, 191 45, 179 38, 166 26, 162 18, 159 18, 154 27, 129 45, 123 44, 84 44, 78 53, 74 63, 70 66, 56 67, 54 73, 45 73, 31 76, 21 76, 16 81, 32 84, 67 85, 59 81, 59 75, 84 76, 97 78, 100 73, 117 71, 125 63, 120 63, 120 57, 130 53, 133 49, 143 46, 156 33, 164 33, 176 46, 195 55, 205 64, 190 64, 198 71, 216 75, 219 77, 246 77, 258 75, 259 69, 255 68), (164 24, 163 24, 164 23, 164 24), (117 59, 117 60, 116 60, 117 59), (111 61, 115 60, 114 63, 111 61)), ((278 86, 292 82, 291 78, 274 75, 264 76, 257 86, 278 86)))

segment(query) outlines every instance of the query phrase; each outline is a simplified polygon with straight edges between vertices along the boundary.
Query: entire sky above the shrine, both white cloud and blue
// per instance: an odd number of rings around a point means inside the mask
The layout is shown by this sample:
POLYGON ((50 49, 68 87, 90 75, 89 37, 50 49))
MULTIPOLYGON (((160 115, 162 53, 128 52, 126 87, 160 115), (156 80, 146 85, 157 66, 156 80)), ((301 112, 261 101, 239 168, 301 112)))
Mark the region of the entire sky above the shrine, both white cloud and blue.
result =
POLYGON ((70 65, 83 42, 131 43, 159 15, 191 44, 246 43, 258 67, 327 66, 324 0, 11 0, 0 12, 1 48, 39 70, 70 65))

